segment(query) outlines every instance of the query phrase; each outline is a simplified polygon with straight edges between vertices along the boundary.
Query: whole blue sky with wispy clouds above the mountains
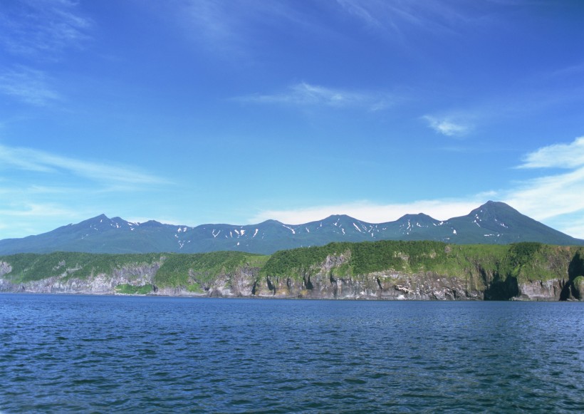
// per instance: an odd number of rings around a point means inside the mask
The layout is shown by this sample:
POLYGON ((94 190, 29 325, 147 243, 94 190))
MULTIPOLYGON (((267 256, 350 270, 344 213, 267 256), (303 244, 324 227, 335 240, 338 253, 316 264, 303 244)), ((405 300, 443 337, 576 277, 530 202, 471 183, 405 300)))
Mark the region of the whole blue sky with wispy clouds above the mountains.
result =
POLYGON ((99 214, 584 238, 584 2, 0 2, 0 239, 99 214))

